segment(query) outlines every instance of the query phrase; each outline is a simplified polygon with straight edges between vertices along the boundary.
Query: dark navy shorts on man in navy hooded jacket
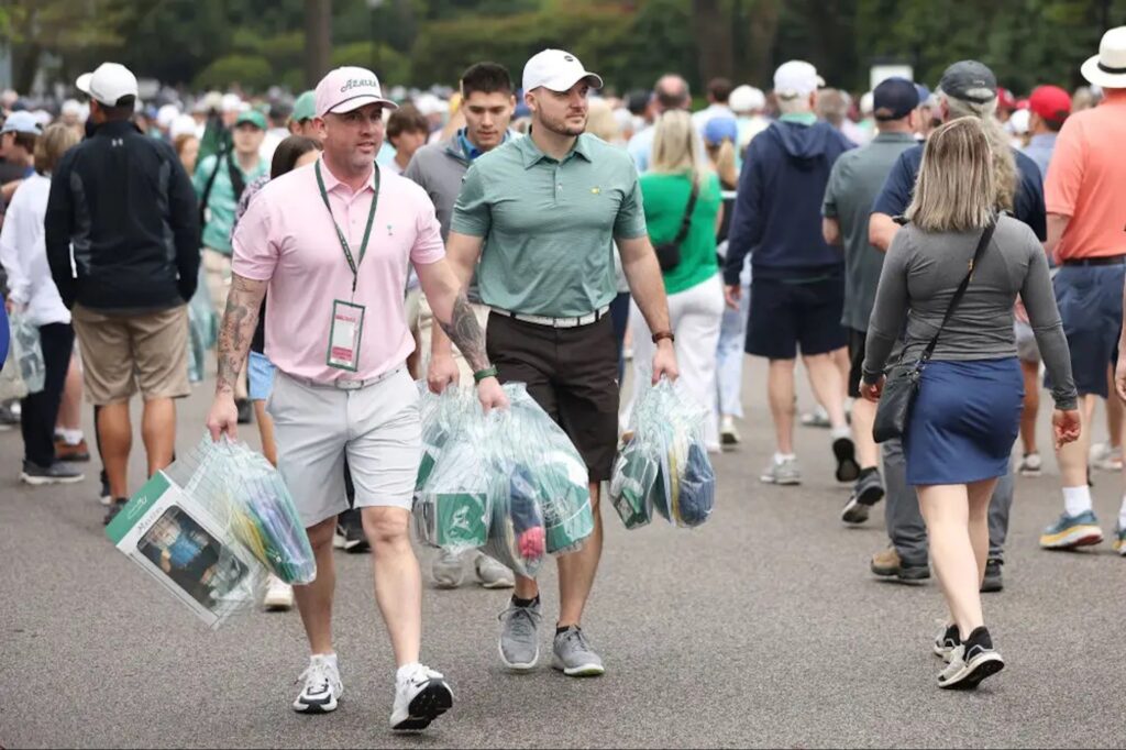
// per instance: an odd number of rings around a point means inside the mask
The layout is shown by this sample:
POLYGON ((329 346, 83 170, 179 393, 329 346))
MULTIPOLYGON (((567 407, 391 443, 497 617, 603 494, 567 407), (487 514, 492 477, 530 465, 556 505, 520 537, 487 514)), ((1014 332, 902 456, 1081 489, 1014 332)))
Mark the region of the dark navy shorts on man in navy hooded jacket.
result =
POLYGON ((747 354, 795 359, 828 354, 848 343, 841 314, 844 282, 831 276, 812 282, 751 277, 751 316, 747 354))

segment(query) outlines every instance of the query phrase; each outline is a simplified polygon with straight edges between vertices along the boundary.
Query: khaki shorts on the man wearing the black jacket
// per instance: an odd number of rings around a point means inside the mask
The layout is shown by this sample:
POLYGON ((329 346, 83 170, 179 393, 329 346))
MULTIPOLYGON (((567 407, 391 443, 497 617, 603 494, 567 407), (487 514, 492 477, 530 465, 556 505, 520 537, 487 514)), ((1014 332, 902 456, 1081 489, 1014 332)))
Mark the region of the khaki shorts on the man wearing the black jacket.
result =
POLYGON ((90 403, 179 399, 188 382, 188 306, 141 315, 106 315, 74 305, 74 333, 82 352, 82 385, 90 403))

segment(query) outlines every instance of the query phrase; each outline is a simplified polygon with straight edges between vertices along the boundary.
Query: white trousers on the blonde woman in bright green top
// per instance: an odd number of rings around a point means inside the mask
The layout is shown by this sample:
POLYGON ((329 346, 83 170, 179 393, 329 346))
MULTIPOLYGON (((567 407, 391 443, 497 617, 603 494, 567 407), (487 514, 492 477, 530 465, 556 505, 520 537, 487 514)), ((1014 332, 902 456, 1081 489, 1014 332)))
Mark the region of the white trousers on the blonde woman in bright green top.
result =
MULTIPOLYGON (((720 423, 715 414, 715 351, 720 343, 720 323, 723 320, 723 284, 713 276, 690 289, 669 295, 669 319, 677 337, 677 365, 685 392, 707 409, 704 441, 708 448, 720 447, 720 423)), ((647 383, 653 373, 656 346, 653 333, 645 324, 641 307, 629 303, 629 325, 633 330, 635 387, 647 383)), ((633 411, 633 396, 626 413, 633 411)))

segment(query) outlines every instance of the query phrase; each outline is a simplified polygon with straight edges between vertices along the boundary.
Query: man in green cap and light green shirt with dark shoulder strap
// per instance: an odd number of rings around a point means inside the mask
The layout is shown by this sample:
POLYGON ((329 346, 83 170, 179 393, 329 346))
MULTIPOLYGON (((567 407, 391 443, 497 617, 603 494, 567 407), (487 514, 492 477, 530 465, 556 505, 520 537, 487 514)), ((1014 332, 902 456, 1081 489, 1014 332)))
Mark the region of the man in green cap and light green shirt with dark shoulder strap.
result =
MULTIPOLYGON (((223 319, 226 295, 231 291, 231 226, 234 209, 242 190, 269 171, 269 164, 259 154, 266 137, 266 117, 249 109, 234 122, 233 146, 207 157, 196 167, 194 178, 196 196, 203 212, 203 267, 215 311, 223 319)), ((235 386, 239 423, 250 421, 250 400, 247 394, 247 374, 235 386)))

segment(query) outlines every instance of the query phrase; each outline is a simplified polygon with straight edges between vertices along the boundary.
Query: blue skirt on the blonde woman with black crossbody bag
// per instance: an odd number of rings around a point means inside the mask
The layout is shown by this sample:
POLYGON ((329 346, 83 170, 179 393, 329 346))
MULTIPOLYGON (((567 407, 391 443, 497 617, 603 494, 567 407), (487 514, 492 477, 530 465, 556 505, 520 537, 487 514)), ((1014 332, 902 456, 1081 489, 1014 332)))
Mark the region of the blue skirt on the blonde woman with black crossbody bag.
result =
POLYGON ((929 363, 903 436, 908 484, 966 484, 1007 474, 1024 398, 1016 357, 929 363))

